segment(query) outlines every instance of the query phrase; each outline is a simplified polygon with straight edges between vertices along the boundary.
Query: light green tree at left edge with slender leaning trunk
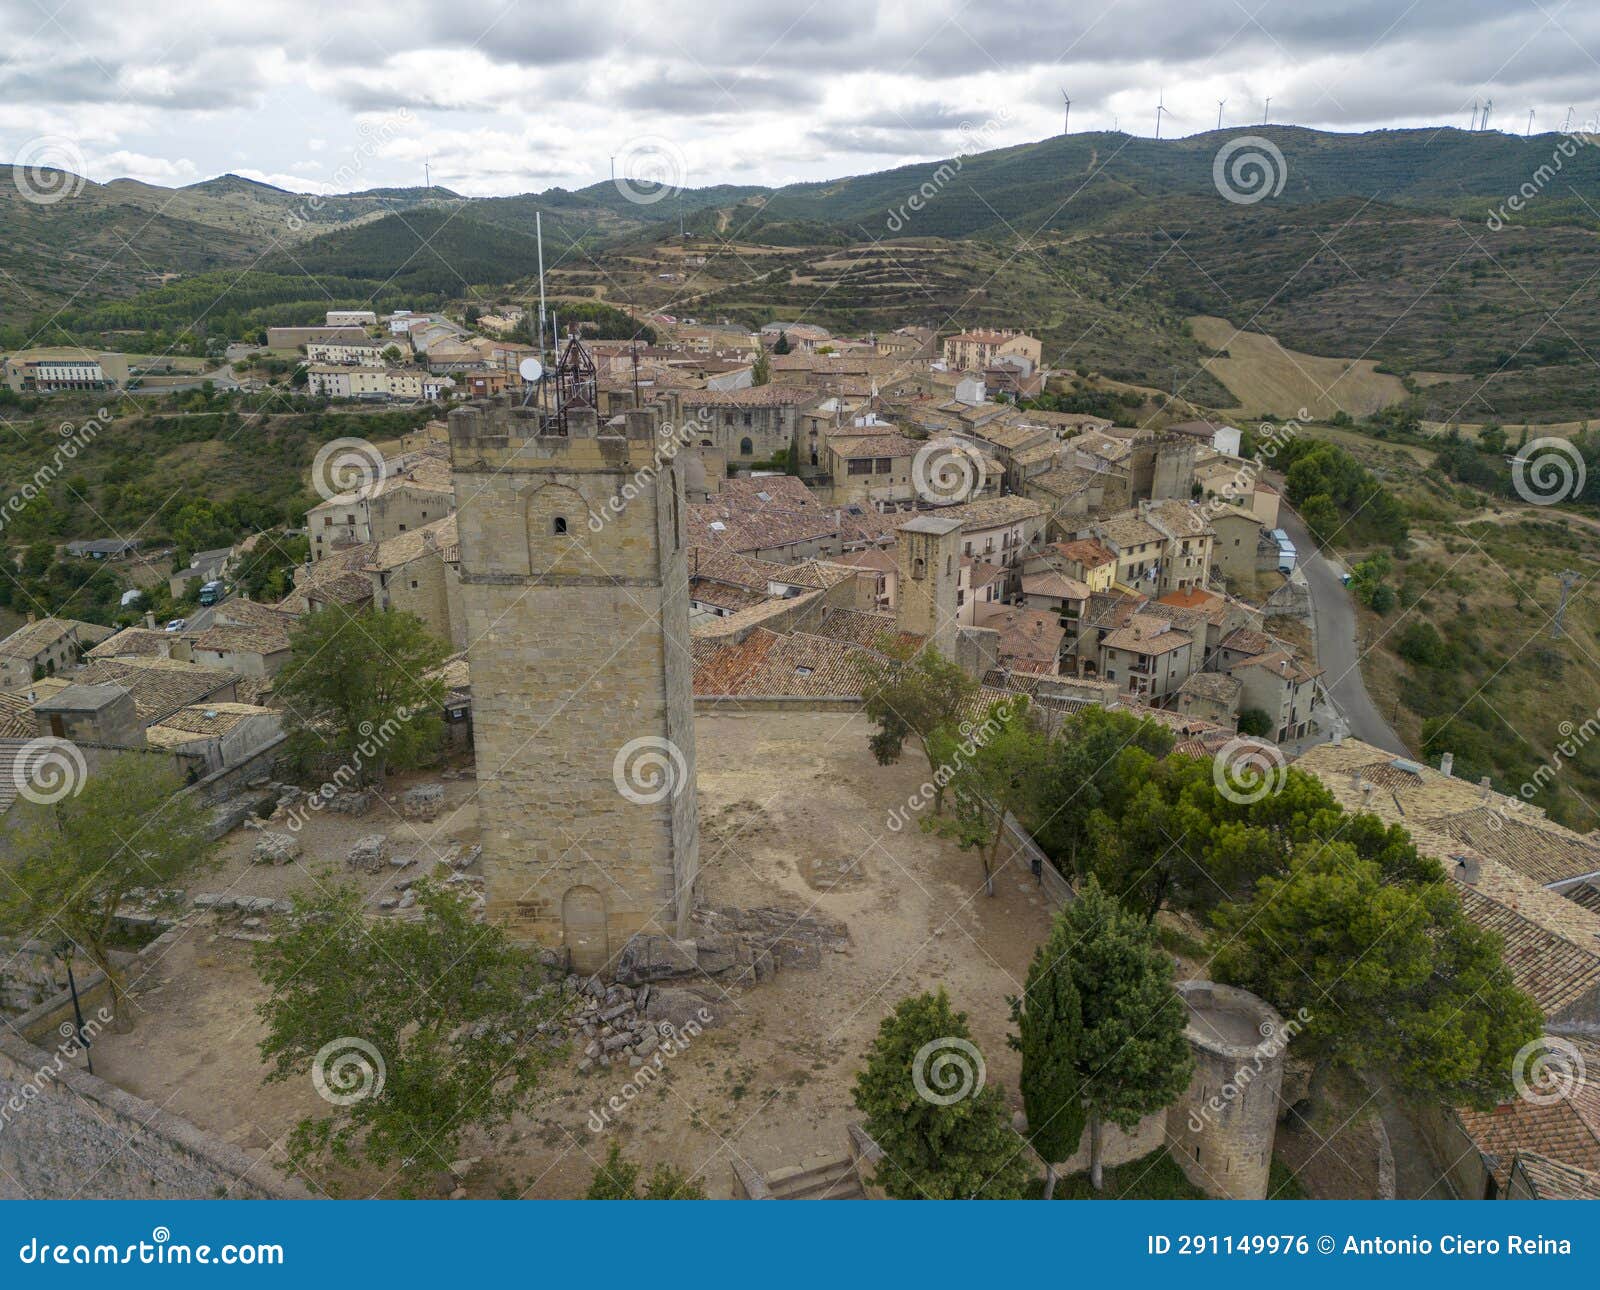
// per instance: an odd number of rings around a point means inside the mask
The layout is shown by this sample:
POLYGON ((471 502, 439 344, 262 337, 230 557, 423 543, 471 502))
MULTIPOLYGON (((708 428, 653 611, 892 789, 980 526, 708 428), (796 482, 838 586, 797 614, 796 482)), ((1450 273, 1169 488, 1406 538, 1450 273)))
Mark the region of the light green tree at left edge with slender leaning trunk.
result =
POLYGON ((18 768, 27 787, 8 819, 0 927, 86 954, 126 1023, 126 980, 112 959, 117 909, 133 887, 182 885, 206 871, 208 818, 165 759, 123 752, 85 778, 82 754, 61 741, 18 768))

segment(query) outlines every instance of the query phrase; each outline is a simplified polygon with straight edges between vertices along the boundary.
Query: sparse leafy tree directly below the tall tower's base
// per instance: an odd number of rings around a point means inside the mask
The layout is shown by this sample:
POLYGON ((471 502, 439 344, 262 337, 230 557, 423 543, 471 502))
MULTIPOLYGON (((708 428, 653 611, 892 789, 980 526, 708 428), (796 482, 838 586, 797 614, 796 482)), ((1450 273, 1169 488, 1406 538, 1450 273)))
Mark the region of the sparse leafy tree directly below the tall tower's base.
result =
POLYGON ((413 890, 419 920, 370 920, 358 888, 320 885, 256 946, 267 1082, 309 1074, 333 1108, 290 1132, 290 1159, 365 1159, 395 1168, 408 1196, 469 1132, 520 1109, 565 1052, 544 1029, 565 1004, 538 955, 456 891, 413 890))

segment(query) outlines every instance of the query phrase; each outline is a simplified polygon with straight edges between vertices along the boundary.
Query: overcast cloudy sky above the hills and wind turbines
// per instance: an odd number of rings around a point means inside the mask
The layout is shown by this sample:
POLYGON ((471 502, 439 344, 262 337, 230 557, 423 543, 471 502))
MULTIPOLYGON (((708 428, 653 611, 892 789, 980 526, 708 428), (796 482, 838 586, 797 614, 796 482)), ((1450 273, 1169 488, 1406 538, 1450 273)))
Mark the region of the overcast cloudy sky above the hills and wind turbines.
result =
MULTIPOLYGON (((0 0, 0 162, 507 194, 882 170, 1061 130, 1560 128, 1592 0, 0 0)), ((1587 96, 1587 98, 1586 98, 1587 96)))

